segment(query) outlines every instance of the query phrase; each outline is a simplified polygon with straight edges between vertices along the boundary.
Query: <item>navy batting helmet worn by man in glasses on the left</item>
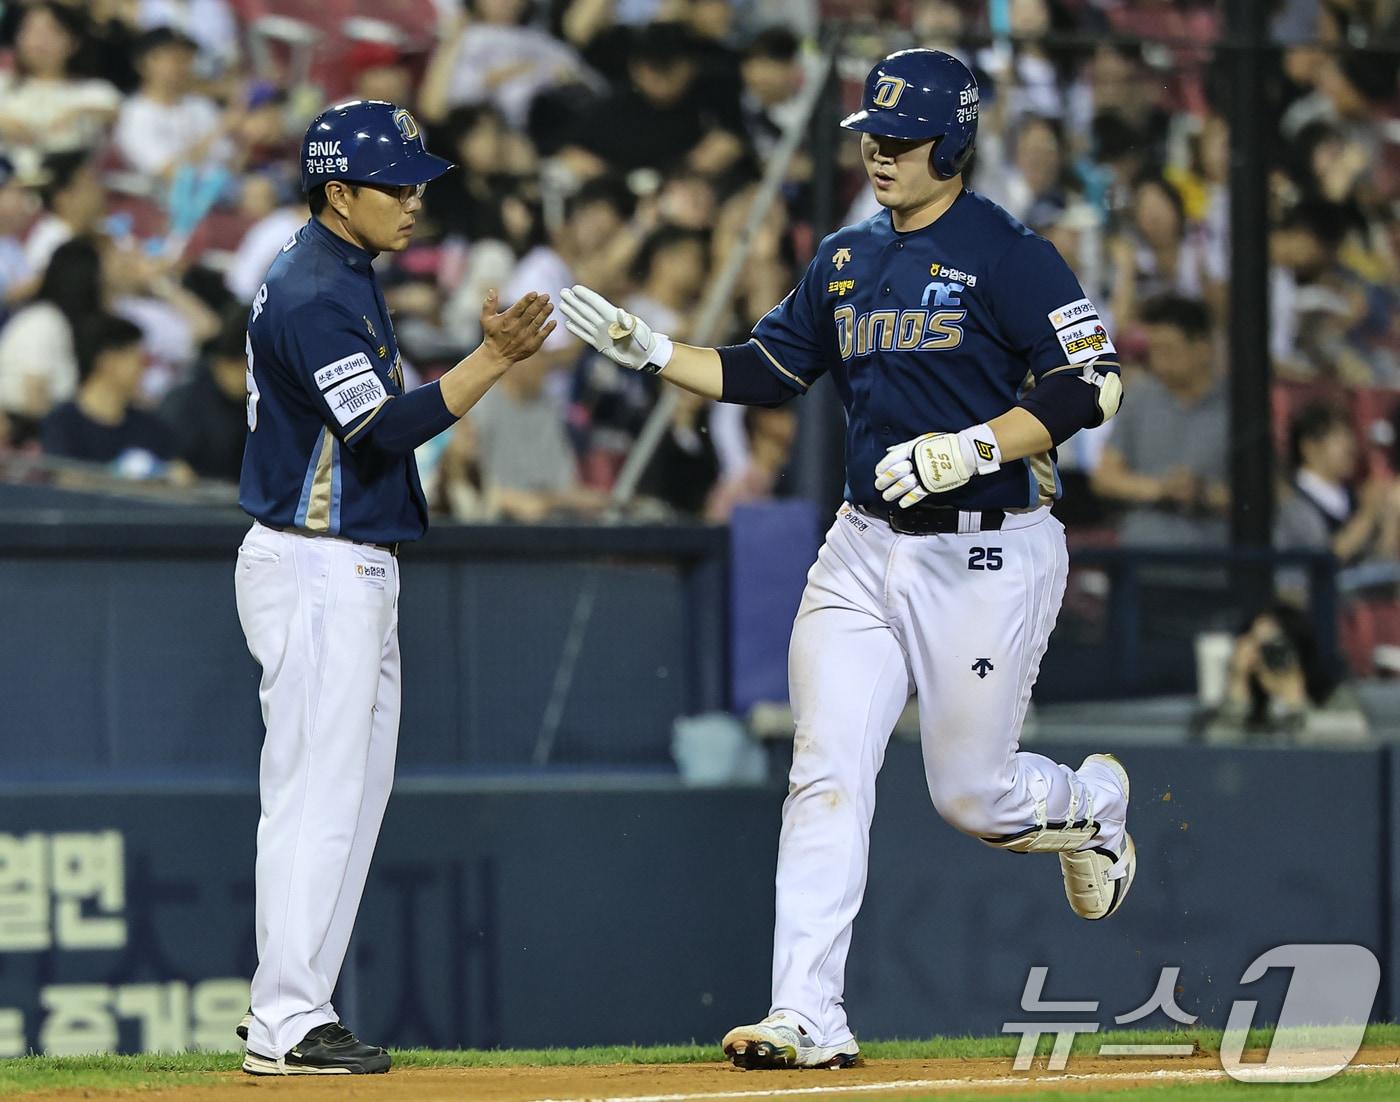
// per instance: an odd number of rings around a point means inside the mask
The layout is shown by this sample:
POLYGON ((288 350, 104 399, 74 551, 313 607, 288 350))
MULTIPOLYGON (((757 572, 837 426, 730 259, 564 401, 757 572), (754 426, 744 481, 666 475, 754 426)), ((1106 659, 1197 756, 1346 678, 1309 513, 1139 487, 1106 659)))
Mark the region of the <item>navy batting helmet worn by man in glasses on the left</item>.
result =
POLYGON ((301 140, 301 190, 326 181, 427 183, 452 168, 423 144, 417 119, 382 99, 351 99, 326 108, 301 140))

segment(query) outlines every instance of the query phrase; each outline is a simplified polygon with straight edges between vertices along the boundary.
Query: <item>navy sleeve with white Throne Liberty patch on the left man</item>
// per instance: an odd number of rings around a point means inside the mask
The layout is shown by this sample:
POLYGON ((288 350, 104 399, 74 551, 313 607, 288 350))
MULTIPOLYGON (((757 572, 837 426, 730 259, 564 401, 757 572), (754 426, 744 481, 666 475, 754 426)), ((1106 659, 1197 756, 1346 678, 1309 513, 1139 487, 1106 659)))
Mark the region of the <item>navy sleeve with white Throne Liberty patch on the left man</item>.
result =
POLYGON ((375 367, 378 346, 363 318, 328 302, 294 311, 277 339, 279 354, 297 375, 321 416, 342 441, 354 447, 398 388, 375 367))

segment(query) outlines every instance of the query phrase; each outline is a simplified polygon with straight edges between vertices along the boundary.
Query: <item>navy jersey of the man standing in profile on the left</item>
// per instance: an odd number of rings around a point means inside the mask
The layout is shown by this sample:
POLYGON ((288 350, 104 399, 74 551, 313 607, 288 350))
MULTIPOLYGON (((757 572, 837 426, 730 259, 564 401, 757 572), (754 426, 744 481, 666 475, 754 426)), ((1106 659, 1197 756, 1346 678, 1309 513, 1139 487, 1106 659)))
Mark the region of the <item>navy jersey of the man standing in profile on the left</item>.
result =
POLYGON ((371 543, 419 539, 413 455, 367 444, 403 367, 371 256, 312 218, 267 269, 248 315, 248 445, 238 501, 273 528, 371 543))

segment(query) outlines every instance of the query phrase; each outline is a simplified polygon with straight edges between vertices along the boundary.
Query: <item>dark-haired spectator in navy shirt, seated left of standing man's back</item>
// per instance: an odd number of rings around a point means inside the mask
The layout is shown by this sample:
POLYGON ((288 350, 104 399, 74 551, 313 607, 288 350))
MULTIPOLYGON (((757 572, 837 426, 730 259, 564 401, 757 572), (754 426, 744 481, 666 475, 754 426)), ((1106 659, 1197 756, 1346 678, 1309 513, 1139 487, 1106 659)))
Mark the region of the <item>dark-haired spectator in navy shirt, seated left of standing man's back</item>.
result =
POLYGON ((189 480, 175 459, 175 440, 153 413, 133 403, 141 389, 146 353, 141 330, 125 318, 98 315, 80 335, 77 396, 43 419, 43 451, 67 459, 113 463, 127 477, 189 480))

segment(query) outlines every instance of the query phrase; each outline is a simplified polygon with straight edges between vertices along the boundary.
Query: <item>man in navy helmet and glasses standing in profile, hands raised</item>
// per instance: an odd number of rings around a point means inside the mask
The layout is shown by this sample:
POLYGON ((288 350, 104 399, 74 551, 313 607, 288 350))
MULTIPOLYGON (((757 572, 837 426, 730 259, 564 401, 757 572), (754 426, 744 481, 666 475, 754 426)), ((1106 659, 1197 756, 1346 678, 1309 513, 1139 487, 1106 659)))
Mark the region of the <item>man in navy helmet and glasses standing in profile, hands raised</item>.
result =
MULTIPOLYGON (((480 347, 405 392, 372 260, 413 237, 431 155, 403 108, 339 104, 301 147, 311 220, 248 316, 238 618, 262 667, 258 972, 244 1071, 388 1071, 330 1005, 393 781, 399 545, 427 528, 413 449, 554 328, 547 295, 482 307, 480 347)), ((244 1032, 246 1031, 246 1032, 244 1032)))

